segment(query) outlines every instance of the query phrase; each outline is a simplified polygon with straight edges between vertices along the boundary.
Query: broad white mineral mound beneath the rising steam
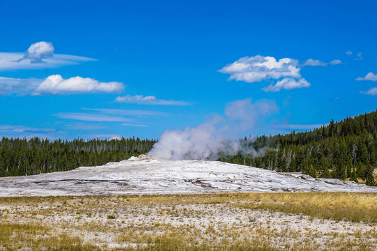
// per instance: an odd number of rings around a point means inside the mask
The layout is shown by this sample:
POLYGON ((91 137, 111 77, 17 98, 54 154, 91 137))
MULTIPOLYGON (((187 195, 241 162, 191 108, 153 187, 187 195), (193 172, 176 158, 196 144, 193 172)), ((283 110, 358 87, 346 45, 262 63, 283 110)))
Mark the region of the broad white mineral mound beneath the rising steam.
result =
POLYGON ((0 178, 1 197, 282 191, 377 192, 377 188, 217 161, 160 160, 151 155, 68 172, 0 178))

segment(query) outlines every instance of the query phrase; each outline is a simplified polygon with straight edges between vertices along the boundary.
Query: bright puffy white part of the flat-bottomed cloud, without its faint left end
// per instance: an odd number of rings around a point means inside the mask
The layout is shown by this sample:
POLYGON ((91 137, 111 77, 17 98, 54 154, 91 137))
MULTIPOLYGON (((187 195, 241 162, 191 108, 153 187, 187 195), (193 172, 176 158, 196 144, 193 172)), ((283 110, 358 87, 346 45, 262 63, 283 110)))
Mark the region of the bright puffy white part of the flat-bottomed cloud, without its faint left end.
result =
POLYGON ((118 93, 123 91, 124 87, 124 84, 120 82, 98 82, 89 77, 83 78, 79 76, 63 79, 61 75, 51 75, 31 94, 118 93))

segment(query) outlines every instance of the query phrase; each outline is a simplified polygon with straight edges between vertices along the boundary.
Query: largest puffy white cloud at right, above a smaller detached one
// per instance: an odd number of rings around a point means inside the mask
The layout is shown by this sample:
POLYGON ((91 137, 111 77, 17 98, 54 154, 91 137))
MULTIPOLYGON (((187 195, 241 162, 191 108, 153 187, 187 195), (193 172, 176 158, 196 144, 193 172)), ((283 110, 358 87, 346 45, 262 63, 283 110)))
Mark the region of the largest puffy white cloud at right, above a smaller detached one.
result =
POLYGON ((234 63, 230 63, 220 73, 229 73, 229 80, 245 81, 248 83, 260 82, 266 79, 281 77, 300 78, 300 68, 295 59, 279 59, 272 56, 245 56, 234 63))

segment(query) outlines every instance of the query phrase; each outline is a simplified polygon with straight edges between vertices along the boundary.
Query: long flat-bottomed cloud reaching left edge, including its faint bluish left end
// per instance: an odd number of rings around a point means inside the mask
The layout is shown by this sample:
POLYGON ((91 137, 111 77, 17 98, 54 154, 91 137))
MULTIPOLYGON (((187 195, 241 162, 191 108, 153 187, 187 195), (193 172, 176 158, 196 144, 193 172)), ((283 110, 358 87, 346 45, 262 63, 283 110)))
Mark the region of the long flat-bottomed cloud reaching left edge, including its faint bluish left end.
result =
POLYGON ((47 79, 19 79, 0 77, 0 96, 8 95, 68 95, 83 93, 120 93, 125 88, 121 82, 99 82, 89 77, 51 75, 47 79))

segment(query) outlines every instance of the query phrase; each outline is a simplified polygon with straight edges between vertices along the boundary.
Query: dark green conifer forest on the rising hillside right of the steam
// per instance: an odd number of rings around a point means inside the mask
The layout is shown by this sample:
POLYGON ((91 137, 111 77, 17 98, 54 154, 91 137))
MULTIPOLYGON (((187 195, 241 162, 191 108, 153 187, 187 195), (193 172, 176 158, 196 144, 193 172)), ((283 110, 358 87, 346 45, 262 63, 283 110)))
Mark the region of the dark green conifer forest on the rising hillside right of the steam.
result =
POLYGON ((218 160, 277 172, 302 172, 320 178, 362 178, 376 185, 377 110, 330 121, 309 132, 240 139, 249 153, 220 154, 218 160))

